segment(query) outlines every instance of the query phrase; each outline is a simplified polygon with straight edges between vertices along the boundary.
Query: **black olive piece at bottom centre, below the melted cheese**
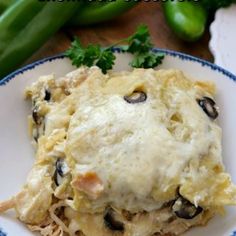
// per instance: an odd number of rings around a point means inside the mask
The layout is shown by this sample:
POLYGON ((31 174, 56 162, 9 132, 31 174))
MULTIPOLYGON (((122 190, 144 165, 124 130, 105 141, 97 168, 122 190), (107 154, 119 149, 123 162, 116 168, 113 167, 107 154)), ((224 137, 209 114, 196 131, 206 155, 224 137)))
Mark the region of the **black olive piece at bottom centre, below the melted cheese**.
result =
POLYGON ((104 223, 107 228, 113 231, 124 231, 124 224, 115 219, 115 212, 108 208, 104 215, 104 223))

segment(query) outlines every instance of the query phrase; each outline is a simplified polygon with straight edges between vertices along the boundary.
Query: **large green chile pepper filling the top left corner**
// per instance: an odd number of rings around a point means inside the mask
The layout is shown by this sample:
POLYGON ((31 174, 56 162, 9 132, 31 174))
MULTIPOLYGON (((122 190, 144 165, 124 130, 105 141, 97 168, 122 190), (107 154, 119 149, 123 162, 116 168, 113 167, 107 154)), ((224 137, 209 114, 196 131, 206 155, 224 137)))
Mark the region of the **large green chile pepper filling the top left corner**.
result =
POLYGON ((79 9, 78 2, 18 0, 0 17, 0 79, 15 70, 79 9))

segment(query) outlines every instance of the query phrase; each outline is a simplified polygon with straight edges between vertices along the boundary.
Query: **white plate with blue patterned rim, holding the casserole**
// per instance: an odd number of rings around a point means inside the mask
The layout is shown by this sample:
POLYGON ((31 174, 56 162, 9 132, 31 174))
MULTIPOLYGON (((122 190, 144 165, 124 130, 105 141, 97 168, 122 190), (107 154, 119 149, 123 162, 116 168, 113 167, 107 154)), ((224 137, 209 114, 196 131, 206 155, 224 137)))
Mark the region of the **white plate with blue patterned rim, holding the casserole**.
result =
MULTIPOLYGON (((200 59, 177 52, 158 50, 166 54, 159 68, 178 68, 198 80, 214 81, 218 87, 217 104, 221 108, 220 124, 223 127, 223 155, 227 171, 236 183, 236 77, 231 73, 200 59)), ((130 56, 116 49, 115 70, 129 69, 130 56)), ((54 72, 65 75, 74 67, 62 55, 31 64, 0 82, 0 201, 16 194, 25 183, 34 162, 34 151, 27 134, 27 115, 30 104, 23 99, 24 89, 40 75, 54 72)), ((0 228, 9 236, 32 235, 14 217, 13 212, 0 216, 0 228)), ((227 208, 225 217, 215 217, 206 227, 191 230, 188 236, 236 235, 236 208, 227 208)), ((4 234, 0 233, 0 236, 4 234)))

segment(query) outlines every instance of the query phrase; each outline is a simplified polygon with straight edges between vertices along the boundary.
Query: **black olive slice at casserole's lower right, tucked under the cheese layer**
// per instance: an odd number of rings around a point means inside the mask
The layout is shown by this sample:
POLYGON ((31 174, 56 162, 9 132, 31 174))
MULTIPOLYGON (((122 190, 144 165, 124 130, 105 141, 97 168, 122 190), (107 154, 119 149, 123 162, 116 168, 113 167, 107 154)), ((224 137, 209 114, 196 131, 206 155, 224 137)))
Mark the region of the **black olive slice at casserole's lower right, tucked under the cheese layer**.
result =
POLYGON ((177 217, 190 220, 200 214, 203 209, 201 207, 195 207, 190 201, 179 196, 174 202, 172 210, 177 217))

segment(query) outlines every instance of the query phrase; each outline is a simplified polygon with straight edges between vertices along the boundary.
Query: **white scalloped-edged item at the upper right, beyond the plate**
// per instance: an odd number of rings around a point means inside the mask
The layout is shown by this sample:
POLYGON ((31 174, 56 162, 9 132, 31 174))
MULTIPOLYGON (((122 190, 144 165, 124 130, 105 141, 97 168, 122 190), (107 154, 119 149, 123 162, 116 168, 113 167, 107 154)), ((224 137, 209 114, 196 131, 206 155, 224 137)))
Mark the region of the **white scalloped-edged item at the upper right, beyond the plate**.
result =
POLYGON ((215 63, 236 75, 236 4, 216 12, 210 31, 215 63))

